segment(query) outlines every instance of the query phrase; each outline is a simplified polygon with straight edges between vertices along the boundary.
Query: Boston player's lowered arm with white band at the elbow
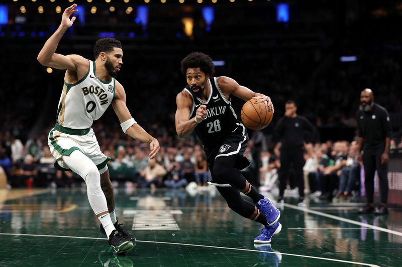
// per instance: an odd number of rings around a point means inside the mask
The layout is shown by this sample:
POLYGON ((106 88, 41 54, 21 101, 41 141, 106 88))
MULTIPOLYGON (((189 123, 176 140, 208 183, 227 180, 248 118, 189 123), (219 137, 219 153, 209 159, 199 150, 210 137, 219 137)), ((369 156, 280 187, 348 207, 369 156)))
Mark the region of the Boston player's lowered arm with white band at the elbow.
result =
POLYGON ((158 140, 148 134, 140 125, 138 125, 138 123, 135 122, 126 105, 126 92, 118 81, 116 81, 115 90, 116 95, 112 102, 112 106, 119 118, 123 131, 138 141, 149 143, 151 148, 149 157, 154 158, 160 150, 158 140))

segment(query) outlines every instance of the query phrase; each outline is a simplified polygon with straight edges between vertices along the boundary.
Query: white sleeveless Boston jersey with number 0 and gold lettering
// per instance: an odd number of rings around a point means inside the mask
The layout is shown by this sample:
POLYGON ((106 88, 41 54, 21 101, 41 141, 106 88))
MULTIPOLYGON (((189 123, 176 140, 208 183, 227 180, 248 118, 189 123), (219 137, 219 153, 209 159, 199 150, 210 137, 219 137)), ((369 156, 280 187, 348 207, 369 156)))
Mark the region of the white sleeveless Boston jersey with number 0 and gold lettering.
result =
POLYGON ((95 77, 95 62, 89 61, 85 76, 74 84, 64 81, 57 110, 57 123, 71 129, 92 126, 115 97, 115 78, 105 82, 95 77))

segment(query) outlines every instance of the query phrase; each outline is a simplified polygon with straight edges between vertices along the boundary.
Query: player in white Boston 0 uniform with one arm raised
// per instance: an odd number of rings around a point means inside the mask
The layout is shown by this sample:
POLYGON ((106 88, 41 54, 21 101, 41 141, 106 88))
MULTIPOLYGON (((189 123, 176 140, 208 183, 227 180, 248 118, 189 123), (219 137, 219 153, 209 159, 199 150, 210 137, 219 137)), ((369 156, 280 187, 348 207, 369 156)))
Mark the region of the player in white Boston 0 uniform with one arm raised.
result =
POLYGON ((126 106, 126 93, 115 77, 123 64, 123 50, 112 38, 96 42, 92 62, 79 55, 55 53, 63 34, 75 21, 76 4, 67 8, 56 32, 46 41, 38 55, 45 66, 67 70, 57 110, 57 123, 49 133, 49 147, 57 159, 55 167, 79 174, 86 183, 89 204, 100 220, 100 231, 109 238, 115 253, 134 246, 134 236, 118 223, 113 186, 107 162, 91 127, 112 104, 123 131, 132 138, 150 144, 150 158, 159 151, 158 141, 141 128, 126 106))

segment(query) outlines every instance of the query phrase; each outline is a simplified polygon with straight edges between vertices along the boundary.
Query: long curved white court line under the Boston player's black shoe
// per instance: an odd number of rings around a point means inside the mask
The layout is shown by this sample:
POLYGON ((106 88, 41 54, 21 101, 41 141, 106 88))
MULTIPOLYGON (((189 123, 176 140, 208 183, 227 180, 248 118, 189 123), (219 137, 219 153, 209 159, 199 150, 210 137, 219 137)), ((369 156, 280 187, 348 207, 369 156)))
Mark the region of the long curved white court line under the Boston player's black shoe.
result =
MULTIPOLYGON (((21 235, 21 236, 63 237, 63 238, 104 239, 104 240, 108 240, 107 238, 97 238, 97 237, 66 236, 66 235, 45 235, 45 234, 26 234, 26 233, 0 233, 0 235, 21 235)), ((136 240, 136 242, 142 242, 142 243, 158 243, 158 244, 171 244, 171 245, 188 245, 188 246, 209 247, 209 248, 219 248, 219 249, 230 249, 230 250, 240 250, 240 251, 250 251, 250 252, 262 252, 262 253, 271 253, 271 254, 279 254, 279 255, 287 255, 287 256, 307 257, 307 258, 315 258, 315 259, 322 259, 322 260, 329 260, 329 261, 337 261, 337 262, 344 262, 344 263, 352 263, 352 264, 359 264, 359 265, 363 265, 363 266, 379 267, 378 265, 375 265, 375 264, 369 264, 369 263, 363 263, 363 262, 356 262, 356 261, 349 261, 349 260, 342 260, 342 259, 335 259, 335 258, 315 257, 315 256, 308 256, 308 255, 299 255, 299 254, 282 253, 282 252, 273 252, 273 251, 261 251, 261 250, 254 250, 254 249, 245 249, 245 248, 224 247, 224 246, 212 246, 212 245, 197 245, 197 244, 184 244, 184 243, 173 243, 173 242, 159 242, 159 241, 145 241, 145 240, 136 240)))

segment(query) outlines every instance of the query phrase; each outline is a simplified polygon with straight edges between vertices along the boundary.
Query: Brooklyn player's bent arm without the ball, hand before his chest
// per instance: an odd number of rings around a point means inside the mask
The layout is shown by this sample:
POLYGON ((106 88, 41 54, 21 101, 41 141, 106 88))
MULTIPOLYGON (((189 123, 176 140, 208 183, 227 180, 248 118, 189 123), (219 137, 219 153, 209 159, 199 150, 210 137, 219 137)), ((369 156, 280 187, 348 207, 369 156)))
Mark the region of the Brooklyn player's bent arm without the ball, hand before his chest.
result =
POLYGON ((207 116, 207 106, 200 105, 196 111, 195 117, 190 119, 190 109, 192 107, 191 96, 185 92, 180 92, 176 97, 176 115, 175 124, 177 135, 182 138, 194 131, 198 123, 202 122, 207 116))

